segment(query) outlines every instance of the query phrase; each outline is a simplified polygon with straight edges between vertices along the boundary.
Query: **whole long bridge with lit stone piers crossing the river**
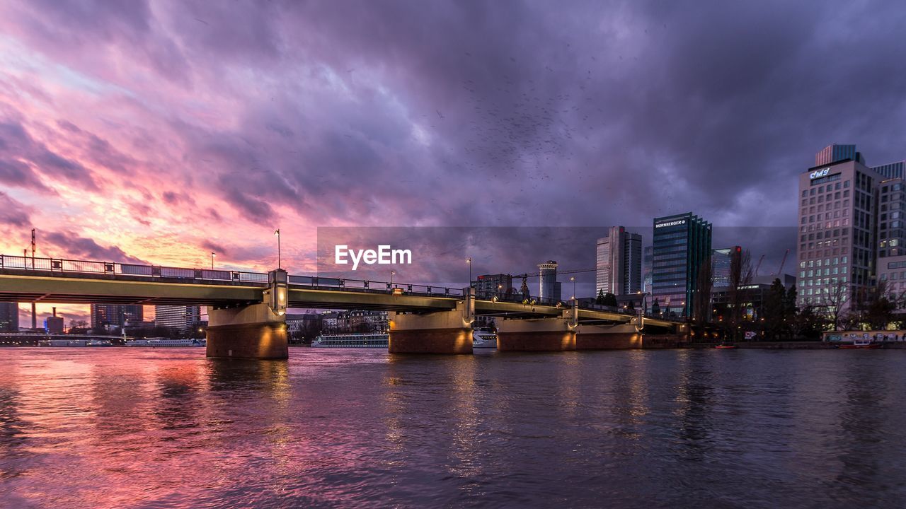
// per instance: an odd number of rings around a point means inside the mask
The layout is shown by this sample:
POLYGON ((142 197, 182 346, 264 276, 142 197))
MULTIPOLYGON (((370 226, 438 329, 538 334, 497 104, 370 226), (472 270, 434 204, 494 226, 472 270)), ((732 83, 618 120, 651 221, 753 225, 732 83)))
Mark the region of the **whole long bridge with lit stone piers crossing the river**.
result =
POLYGON ((641 313, 477 298, 473 288, 16 255, 0 255, 0 301, 204 305, 209 357, 285 359, 292 307, 390 312, 390 351, 400 353, 469 353, 477 315, 502 318, 501 351, 641 348, 646 336, 670 343, 686 333, 641 313))

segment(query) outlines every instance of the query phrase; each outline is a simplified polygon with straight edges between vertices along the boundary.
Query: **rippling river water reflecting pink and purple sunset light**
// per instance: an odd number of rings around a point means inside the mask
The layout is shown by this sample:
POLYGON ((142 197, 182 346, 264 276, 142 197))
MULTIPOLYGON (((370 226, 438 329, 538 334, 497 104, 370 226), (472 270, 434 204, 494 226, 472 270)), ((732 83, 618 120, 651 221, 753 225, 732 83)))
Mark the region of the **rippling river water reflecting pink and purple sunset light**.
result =
POLYGON ((2 507, 902 507, 906 351, 0 350, 2 507))

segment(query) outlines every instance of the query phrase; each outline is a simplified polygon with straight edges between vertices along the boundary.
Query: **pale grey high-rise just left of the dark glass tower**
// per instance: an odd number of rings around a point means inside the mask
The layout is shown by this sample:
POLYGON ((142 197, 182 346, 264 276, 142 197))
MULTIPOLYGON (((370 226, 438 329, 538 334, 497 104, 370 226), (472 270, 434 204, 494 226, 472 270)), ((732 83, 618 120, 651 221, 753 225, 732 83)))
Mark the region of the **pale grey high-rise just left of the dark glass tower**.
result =
POLYGON ((641 291, 641 235, 613 226, 597 242, 594 293, 626 295, 641 291))

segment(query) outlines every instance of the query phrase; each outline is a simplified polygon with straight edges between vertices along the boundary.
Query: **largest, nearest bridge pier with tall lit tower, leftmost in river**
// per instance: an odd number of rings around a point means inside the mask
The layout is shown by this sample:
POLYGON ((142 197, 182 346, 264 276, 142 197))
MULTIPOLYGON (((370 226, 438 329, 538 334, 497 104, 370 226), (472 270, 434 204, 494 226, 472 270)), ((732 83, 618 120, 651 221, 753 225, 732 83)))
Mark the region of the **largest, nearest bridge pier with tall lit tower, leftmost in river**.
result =
POLYGON ((286 271, 268 274, 264 302, 207 310, 207 357, 288 359, 286 271))

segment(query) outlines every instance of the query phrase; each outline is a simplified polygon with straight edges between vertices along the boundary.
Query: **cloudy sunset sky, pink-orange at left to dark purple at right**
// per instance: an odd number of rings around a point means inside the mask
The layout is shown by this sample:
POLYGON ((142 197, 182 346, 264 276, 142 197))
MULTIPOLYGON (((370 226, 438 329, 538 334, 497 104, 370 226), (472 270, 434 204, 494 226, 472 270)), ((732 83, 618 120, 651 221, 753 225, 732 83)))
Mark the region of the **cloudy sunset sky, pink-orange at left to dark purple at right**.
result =
MULTIPOLYGON (((9 0, 0 252, 34 227, 38 256, 265 271, 280 228, 307 273, 319 226, 691 210, 766 228, 776 264, 815 152, 906 158, 903 26, 896 1, 9 0)), ((513 251, 582 263, 538 247, 513 251)))

